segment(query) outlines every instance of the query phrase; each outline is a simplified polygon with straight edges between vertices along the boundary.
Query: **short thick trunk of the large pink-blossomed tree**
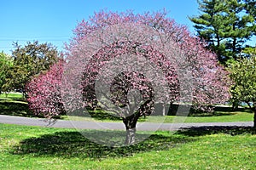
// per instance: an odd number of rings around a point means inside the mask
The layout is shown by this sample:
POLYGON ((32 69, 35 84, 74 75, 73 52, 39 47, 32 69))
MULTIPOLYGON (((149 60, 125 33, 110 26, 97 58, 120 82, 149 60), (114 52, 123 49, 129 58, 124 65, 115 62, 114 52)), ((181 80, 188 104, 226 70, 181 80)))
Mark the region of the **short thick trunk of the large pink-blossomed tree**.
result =
POLYGON ((136 124, 139 116, 140 114, 137 113, 123 118, 126 128, 125 144, 127 145, 135 144, 136 124))

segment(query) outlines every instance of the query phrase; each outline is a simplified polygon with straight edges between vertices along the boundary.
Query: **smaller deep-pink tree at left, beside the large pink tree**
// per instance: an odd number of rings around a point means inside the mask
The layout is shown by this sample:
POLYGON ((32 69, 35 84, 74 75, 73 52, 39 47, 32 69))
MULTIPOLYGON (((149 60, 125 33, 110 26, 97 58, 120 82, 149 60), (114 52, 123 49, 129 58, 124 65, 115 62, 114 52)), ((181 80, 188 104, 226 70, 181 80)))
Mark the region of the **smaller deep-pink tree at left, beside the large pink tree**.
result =
POLYGON ((26 84, 29 108, 38 116, 51 118, 65 113, 61 99, 63 60, 26 84))

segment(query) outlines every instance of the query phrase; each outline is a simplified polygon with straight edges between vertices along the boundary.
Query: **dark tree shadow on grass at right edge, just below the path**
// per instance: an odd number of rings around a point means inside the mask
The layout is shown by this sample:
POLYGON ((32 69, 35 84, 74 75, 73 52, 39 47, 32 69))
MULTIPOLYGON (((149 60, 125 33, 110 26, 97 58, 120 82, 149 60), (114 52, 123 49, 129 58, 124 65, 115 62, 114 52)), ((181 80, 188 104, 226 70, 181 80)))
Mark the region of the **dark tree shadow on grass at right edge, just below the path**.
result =
POLYGON ((205 126, 205 127, 189 127, 177 131, 177 134, 182 134, 189 137, 204 136, 216 133, 225 133, 232 136, 241 134, 256 134, 256 128, 253 127, 238 127, 238 126, 205 126))

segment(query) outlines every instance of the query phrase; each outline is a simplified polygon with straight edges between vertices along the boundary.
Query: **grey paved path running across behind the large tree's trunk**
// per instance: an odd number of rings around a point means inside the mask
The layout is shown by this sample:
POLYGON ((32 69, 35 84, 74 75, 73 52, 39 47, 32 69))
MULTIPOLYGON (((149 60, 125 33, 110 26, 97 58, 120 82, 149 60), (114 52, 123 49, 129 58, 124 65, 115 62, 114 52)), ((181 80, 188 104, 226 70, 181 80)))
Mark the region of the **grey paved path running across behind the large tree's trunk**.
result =
MULTIPOLYGON (((84 121, 65 121, 57 120, 49 125, 45 119, 28 118, 21 116, 5 116, 0 115, 0 123, 18 124, 26 126, 40 127, 63 127, 63 128, 79 128, 79 129, 116 129, 124 130, 125 125, 122 122, 84 122, 84 121)), ((154 131, 154 130, 177 130, 180 127, 212 127, 212 126, 238 126, 253 127, 253 122, 200 122, 200 123, 152 123, 138 122, 138 131, 154 131)))

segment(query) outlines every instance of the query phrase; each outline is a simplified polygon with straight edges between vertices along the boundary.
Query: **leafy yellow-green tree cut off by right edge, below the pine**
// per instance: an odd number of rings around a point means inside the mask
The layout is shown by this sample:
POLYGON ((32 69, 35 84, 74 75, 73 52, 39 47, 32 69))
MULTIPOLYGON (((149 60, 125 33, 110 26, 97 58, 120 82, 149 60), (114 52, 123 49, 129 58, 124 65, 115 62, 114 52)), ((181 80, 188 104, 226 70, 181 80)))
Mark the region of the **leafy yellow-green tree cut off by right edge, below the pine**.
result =
POLYGON ((230 63, 230 78, 234 82, 230 88, 233 99, 246 103, 254 113, 256 127, 256 55, 230 63))

